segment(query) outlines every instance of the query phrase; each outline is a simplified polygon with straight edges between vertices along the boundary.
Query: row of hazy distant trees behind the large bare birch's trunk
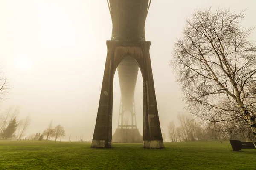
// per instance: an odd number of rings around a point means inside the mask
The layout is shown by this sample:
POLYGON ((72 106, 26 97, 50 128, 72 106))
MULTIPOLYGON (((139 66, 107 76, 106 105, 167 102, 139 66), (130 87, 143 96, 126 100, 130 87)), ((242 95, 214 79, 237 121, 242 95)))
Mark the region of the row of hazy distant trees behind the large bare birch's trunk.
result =
MULTIPOLYGON (((236 125, 233 125, 236 126, 236 125)), ((198 119, 193 118, 189 114, 178 115, 177 125, 172 121, 168 125, 168 137, 171 142, 182 141, 207 141, 218 140, 224 141, 228 139, 236 139, 242 141, 253 141, 253 133, 250 128, 247 130, 236 130, 233 127, 233 131, 222 130, 221 127, 216 125, 204 124, 198 122, 198 119)), ((230 127, 232 129, 232 127, 230 127)), ((165 134, 164 134, 165 136, 165 134)), ((164 137, 165 138, 165 137, 164 137)), ((165 139, 164 139, 165 140, 165 139)))

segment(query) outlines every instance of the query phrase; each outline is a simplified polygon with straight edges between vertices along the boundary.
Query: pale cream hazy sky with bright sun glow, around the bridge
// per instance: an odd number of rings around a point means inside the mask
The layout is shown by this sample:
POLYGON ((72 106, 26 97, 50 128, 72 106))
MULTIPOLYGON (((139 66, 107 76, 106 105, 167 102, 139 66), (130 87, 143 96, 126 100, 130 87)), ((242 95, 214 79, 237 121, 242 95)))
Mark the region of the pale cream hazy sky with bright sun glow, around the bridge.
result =
MULTIPOLYGON (((151 64, 162 132, 185 104, 169 60, 185 19, 195 8, 230 7, 245 12, 244 27, 256 25, 255 0, 152 0, 145 25, 151 41, 151 64)), ((12 89, 0 104, 20 107, 31 117, 30 133, 42 132, 50 120, 72 140, 93 136, 112 23, 106 0, 0 0, 0 65, 12 89)), ((251 35, 256 40, 256 31, 251 35)), ((114 79, 113 132, 120 90, 114 79)), ((137 124, 143 131, 142 77, 135 94, 137 124)))

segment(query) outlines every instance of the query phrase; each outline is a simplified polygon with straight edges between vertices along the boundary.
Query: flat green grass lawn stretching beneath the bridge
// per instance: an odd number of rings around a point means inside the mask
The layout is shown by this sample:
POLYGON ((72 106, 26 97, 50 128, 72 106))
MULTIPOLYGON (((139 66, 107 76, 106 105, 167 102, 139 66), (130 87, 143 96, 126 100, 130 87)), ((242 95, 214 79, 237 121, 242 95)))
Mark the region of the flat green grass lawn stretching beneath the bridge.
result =
POLYGON ((256 170, 256 150, 233 152, 229 142, 170 142, 90 148, 85 142, 0 141, 0 170, 256 170))

